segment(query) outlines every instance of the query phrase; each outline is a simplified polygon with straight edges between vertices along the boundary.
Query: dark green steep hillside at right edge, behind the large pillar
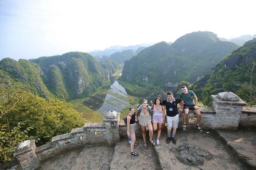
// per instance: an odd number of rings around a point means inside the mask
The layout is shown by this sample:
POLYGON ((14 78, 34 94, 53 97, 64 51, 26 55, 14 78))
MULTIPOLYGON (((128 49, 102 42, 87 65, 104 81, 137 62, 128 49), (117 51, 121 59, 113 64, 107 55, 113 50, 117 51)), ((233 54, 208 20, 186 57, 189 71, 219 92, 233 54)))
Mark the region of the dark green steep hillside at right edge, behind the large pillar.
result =
POLYGON ((255 104, 255 66, 256 38, 226 56, 206 80, 199 80, 194 84, 194 91, 206 104, 212 101, 210 95, 223 91, 233 92, 248 103, 255 104))

